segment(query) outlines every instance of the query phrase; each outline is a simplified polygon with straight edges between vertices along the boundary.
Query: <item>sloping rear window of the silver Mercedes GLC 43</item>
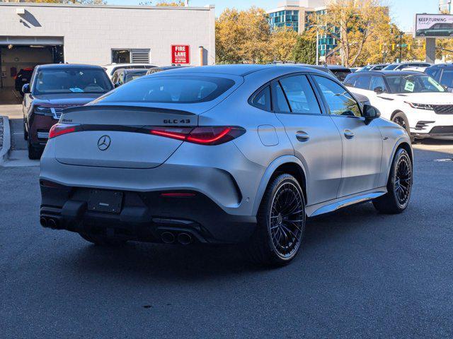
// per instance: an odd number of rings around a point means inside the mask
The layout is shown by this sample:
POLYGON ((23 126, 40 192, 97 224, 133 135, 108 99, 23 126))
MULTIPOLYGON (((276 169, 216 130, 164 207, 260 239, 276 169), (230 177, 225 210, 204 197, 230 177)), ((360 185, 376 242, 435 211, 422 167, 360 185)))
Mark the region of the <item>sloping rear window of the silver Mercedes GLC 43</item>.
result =
POLYGON ((210 76, 148 76, 131 81, 98 102, 195 103, 214 100, 234 81, 210 76))

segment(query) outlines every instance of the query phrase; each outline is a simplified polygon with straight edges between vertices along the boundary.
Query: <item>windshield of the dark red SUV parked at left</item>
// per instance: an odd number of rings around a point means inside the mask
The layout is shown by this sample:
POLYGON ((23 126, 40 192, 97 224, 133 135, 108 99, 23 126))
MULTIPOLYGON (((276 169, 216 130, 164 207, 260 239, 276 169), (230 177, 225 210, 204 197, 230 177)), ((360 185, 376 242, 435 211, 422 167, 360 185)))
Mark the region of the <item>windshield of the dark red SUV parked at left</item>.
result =
POLYGON ((112 89, 102 69, 44 69, 38 71, 34 94, 106 93, 112 89))

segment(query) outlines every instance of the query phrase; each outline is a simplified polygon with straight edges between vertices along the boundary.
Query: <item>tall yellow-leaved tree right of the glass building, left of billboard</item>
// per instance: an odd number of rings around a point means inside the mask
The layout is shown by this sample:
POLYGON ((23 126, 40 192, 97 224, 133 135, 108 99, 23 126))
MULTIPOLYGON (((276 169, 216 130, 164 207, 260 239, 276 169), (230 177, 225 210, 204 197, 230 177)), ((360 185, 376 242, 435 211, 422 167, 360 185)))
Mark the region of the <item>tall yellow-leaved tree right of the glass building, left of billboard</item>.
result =
POLYGON ((345 66, 358 64, 369 40, 389 28, 388 8, 380 0, 336 0, 312 19, 327 37, 337 40, 345 66))

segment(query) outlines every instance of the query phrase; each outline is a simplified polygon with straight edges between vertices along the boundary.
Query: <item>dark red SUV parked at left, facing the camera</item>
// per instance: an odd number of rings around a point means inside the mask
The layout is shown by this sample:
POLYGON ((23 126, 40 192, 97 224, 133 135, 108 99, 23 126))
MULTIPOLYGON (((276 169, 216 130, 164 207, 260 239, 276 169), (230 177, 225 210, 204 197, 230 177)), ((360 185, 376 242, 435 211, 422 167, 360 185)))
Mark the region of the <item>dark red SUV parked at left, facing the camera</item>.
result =
POLYGON ((23 130, 28 157, 40 158, 50 128, 57 124, 64 108, 85 105, 112 89, 100 66, 36 66, 30 83, 23 85, 23 130))

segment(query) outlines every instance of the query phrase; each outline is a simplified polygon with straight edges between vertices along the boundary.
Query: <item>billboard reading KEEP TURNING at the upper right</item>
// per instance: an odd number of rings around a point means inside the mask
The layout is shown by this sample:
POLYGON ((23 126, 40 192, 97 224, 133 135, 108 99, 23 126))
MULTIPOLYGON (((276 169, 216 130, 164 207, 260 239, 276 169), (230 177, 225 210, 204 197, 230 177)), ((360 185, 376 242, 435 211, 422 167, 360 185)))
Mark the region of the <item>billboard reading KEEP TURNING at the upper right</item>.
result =
POLYGON ((415 37, 453 37, 453 15, 416 14, 415 37))

